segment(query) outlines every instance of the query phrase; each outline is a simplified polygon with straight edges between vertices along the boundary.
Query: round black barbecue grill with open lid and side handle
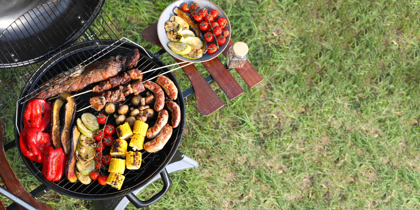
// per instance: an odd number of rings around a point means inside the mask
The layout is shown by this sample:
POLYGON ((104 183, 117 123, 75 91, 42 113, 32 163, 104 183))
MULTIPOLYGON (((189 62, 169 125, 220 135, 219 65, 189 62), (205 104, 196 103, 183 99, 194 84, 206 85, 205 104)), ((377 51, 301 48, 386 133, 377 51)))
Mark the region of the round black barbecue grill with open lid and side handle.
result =
MULTIPOLYGON (((18 41, 5 36, 5 33, 1 34, 0 51, 3 57, 0 56, 0 73, 3 76, 8 75, 14 78, 13 82, 20 91, 20 96, 16 103, 15 119, 15 137, 19 151, 19 132, 23 129, 22 118, 26 103, 34 99, 41 91, 50 88, 52 86, 51 82, 60 83, 60 78, 72 75, 78 67, 88 65, 96 60, 124 54, 134 48, 139 48, 141 55, 136 66, 137 68, 150 70, 155 67, 165 66, 154 54, 123 37, 115 29, 106 13, 100 9, 102 4, 103 1, 101 0, 89 5, 72 0, 47 2, 20 16, 20 18, 11 23, 11 26, 5 29, 4 32, 14 31, 16 34, 13 37, 18 37, 18 41), (36 18, 28 19, 28 16, 32 18, 35 16, 36 18), (47 19, 50 21, 42 21, 47 19), (47 24, 44 24, 45 22, 47 24), (58 26, 60 24, 64 24, 62 27, 66 29, 62 28, 61 31, 64 30, 66 33, 57 34, 55 30, 60 30, 60 26, 58 26), (34 30, 35 26, 39 30, 34 30), (39 38, 40 34, 45 39, 39 38), (57 39, 48 39, 48 37, 57 37, 57 39), (28 49, 29 52, 24 52, 23 47, 28 49), (50 49, 50 51, 46 51, 46 49, 50 49), (13 75, 18 75, 18 78, 13 77, 13 75)), ((160 75, 166 71, 168 71, 168 68, 146 73, 143 80, 160 75)), ((181 90, 172 73, 167 73, 165 76, 176 84, 178 90, 181 90)), ((94 84, 89 85, 79 91, 90 90, 93 86, 94 84)), ((92 92, 76 96, 75 101, 78 109, 89 106, 89 99, 93 96, 96 96, 96 94, 92 92)), ((126 101, 123 101, 122 104, 129 104, 132 96, 126 96, 126 101)), ((146 91, 142 93, 142 96, 146 96, 146 91)), ((184 131, 185 105, 183 99, 182 92, 178 91, 178 99, 174 100, 174 102, 181 107, 180 126, 173 129, 170 140, 162 150, 156 153, 144 151, 142 154, 144 162, 140 169, 126 169, 126 173, 124 173, 126 179, 121 190, 108 185, 102 186, 98 182, 92 182, 88 185, 81 184, 79 181, 70 183, 65 176, 60 181, 48 181, 41 175, 42 164, 30 161, 22 153, 21 157, 29 171, 39 181, 60 194, 85 200, 103 200, 125 195, 136 207, 150 205, 160 199, 171 186, 171 180, 165 166, 174 156, 184 131), (162 191, 150 200, 139 200, 133 192, 146 186, 159 175, 164 183, 162 191)), ((87 111, 95 114, 100 113, 95 112, 93 109, 87 109, 87 111)), ((81 112, 78 112, 76 118, 79 118, 81 114, 81 112)), ((151 126, 156 122, 156 119, 157 114, 149 119, 147 124, 151 126)), ((110 116, 108 120, 112 122, 113 117, 110 116)), ((169 118, 170 121, 171 117, 169 118)), ((49 129, 46 132, 49 132, 49 129)), ((110 148, 107 148, 104 153, 109 153, 109 150, 110 148)))

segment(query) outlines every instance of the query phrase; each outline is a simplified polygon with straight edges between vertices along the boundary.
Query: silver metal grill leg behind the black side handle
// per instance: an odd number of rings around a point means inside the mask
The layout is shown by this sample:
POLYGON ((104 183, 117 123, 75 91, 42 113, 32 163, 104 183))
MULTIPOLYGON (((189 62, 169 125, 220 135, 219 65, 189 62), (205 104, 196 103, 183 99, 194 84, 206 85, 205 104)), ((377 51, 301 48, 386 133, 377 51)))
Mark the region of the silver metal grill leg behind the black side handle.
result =
MULTIPOLYGON (((194 161, 188 156, 184 156, 184 154, 178 151, 176 151, 172 160, 169 162, 168 166, 166 166, 166 170, 170 174, 176 171, 182 171, 185 169, 192 168, 198 169, 197 161, 194 161)), ((135 191, 134 194, 139 194, 140 191, 142 191, 142 189, 144 189, 145 187, 147 187, 147 185, 149 185, 153 181, 156 181, 157 179, 160 179, 159 175, 152 179, 149 183, 147 183, 146 186, 135 191)), ((95 210, 123 210, 129 204, 129 200, 126 197, 122 196, 107 200, 92 200, 91 204, 94 206, 95 210)))

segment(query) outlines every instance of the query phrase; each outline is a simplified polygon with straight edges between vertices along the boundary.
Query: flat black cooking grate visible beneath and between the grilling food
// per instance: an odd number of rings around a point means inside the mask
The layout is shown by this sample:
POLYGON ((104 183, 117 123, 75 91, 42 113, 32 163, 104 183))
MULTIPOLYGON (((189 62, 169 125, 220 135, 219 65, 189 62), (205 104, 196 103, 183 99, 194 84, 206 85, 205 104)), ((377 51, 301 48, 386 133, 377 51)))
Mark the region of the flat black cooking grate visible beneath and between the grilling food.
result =
MULTIPOLYGON (((104 43, 106 42, 106 40, 102 40, 102 41, 104 43)), ((86 41, 86 42, 95 42, 95 40, 86 41)), ((60 66, 62 65, 73 65, 75 63, 78 63, 78 59, 83 60, 84 55, 90 55, 86 53, 87 49, 90 49, 88 51, 100 51, 100 48, 96 46, 92 47, 92 45, 87 44, 86 42, 77 44, 79 46, 86 46, 86 47, 80 47, 80 49, 84 49, 83 51, 79 52, 80 57, 70 56, 70 53, 72 53, 71 49, 68 49, 69 51, 63 50, 63 52, 65 53, 64 55, 68 54, 68 56, 61 57, 55 65, 48 66, 47 68, 38 68, 35 72, 36 74, 34 75, 40 75, 40 77, 38 78, 38 80, 34 80, 34 82, 32 83, 32 86, 25 86, 24 89, 28 88, 28 90, 30 91, 32 87, 36 87, 38 83, 42 83, 42 81, 45 81, 45 75, 47 73, 55 74, 55 70, 59 70, 60 66), (85 53, 81 53, 81 52, 85 52, 85 53)), ((108 46, 107 44, 103 46, 100 45, 100 47, 102 48, 105 48, 107 46, 108 46)), ((127 43, 123 44, 117 47, 116 49, 113 49, 109 53, 105 54, 105 57, 108 58, 110 56, 115 56, 117 54, 124 54, 124 52, 128 52, 130 49, 133 49, 134 46, 135 46, 134 44, 127 44, 127 43)), ((155 67, 163 66, 163 63, 160 60, 150 59, 149 57, 147 57, 148 54, 145 54, 143 52, 141 52, 140 54, 141 54, 140 60, 136 66, 137 68, 152 69, 155 67)), ((50 59, 57 60, 56 57, 51 57, 50 59)), ((167 68, 163 68, 163 69, 155 70, 153 72, 145 73, 143 76, 143 80, 147 80, 156 75, 160 75, 161 73, 164 73, 167 70, 168 70, 167 68)), ((166 74, 166 76, 176 81, 171 73, 166 74)), ((93 85, 89 85, 81 89, 80 91, 83 92, 83 91, 91 90, 92 87, 93 85)), ((141 94, 142 97, 147 96, 146 92, 147 91, 144 91, 141 94)), ((85 93, 79 96, 75 96, 77 109, 81 109, 85 106, 89 106, 89 99, 92 98, 93 96, 97 96, 97 94, 93 92, 89 92, 89 93, 85 93)), ((132 96, 133 96, 132 94, 130 94, 129 96, 126 96, 126 100, 121 101, 122 104, 130 105, 132 96)), ((178 95, 178 99, 174 100, 174 102, 176 102, 177 104, 180 104, 181 107, 184 106, 184 103, 183 103, 184 101, 183 101, 182 96, 178 95)), ((23 129, 22 116, 23 116, 24 110, 25 110, 25 104, 20 104, 18 102, 18 104, 16 104, 16 112, 18 113, 16 114, 16 128, 17 128, 16 138, 18 138, 17 131, 23 129)), ((87 111, 95 115, 101 112, 101 111, 96 112, 92 108, 87 109, 87 111)), ((76 118, 80 118, 81 114, 83 114, 83 112, 77 112, 76 118)), ((182 112, 182 115, 184 115, 184 112, 182 112)), ((181 119, 183 118, 184 116, 181 116, 181 119)), ((112 116, 110 116, 108 120, 110 120, 110 122, 114 122, 115 119, 112 116)), ((146 123, 149 124, 149 127, 151 127, 156 122, 156 120, 157 120, 157 114, 155 114, 152 118, 148 119, 146 123)), ((168 122, 171 122, 171 116, 169 116, 168 122)), ((51 187, 51 185, 53 185, 52 189, 61 194, 65 194, 67 196, 75 197, 79 199, 89 199, 89 200, 95 200, 95 199, 98 199, 98 197, 100 199, 104 199, 104 197, 108 197, 108 196, 112 197, 115 195, 121 195, 123 193, 137 189, 139 186, 147 183, 147 181, 152 179, 154 174, 157 173, 157 171, 165 167, 163 163, 165 162, 167 163, 172 157, 173 153, 175 153, 176 149, 174 148, 178 147, 179 141, 181 140, 181 137, 182 137, 183 130, 184 130, 184 127, 181 125, 179 127, 174 128, 172 136, 170 140, 168 141, 167 145, 162 150, 158 151, 157 153, 148 153, 144 150, 141 150, 142 159, 144 162, 142 163, 141 168, 138 170, 126 169, 124 173, 124 176, 126 177, 126 179, 124 180, 124 184, 121 190, 117 190, 107 185, 102 186, 98 184, 98 182, 92 182, 91 184, 88 184, 88 185, 81 184, 79 181, 75 183, 71 183, 66 179, 65 176, 63 176, 60 181, 48 182, 50 183, 49 186, 51 187)), ((49 129, 47 129, 46 132, 49 132, 49 129)), ((128 149, 130 150, 131 148, 129 147, 128 149)), ((108 147, 104 151, 104 154, 109 154, 109 151, 110 151, 110 148, 108 147)), ((29 163, 26 163, 26 164, 29 164, 27 165, 28 168, 32 171, 33 174, 35 174, 35 176, 37 176, 39 180, 42 181, 43 179, 45 179, 41 175, 42 164, 34 163, 32 161, 29 161, 29 163)), ((105 169, 104 171, 106 172, 107 170, 105 169)))

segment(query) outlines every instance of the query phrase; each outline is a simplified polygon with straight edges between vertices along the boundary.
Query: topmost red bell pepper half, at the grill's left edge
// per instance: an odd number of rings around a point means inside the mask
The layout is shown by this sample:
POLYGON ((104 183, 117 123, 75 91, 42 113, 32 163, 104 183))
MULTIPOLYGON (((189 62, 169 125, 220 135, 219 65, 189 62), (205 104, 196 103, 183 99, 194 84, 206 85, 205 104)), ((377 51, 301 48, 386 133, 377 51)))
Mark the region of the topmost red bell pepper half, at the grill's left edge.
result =
POLYGON ((51 104, 44 99, 29 101, 24 112, 24 127, 37 127, 44 131, 51 118, 51 104))

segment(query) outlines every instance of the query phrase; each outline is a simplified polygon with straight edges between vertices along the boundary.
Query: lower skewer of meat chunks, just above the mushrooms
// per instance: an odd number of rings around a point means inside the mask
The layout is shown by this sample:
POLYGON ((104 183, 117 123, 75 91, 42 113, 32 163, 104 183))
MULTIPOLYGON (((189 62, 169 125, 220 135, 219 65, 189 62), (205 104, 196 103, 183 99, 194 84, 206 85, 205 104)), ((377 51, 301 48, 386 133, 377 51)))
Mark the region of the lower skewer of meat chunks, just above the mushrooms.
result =
POLYGON ((89 100, 90 105, 96 111, 100 111, 104 108, 106 102, 117 104, 120 101, 125 101, 127 95, 134 93, 138 95, 144 91, 144 86, 142 80, 138 80, 133 84, 127 86, 119 86, 118 89, 107 91, 102 94, 102 96, 95 96, 89 100))

